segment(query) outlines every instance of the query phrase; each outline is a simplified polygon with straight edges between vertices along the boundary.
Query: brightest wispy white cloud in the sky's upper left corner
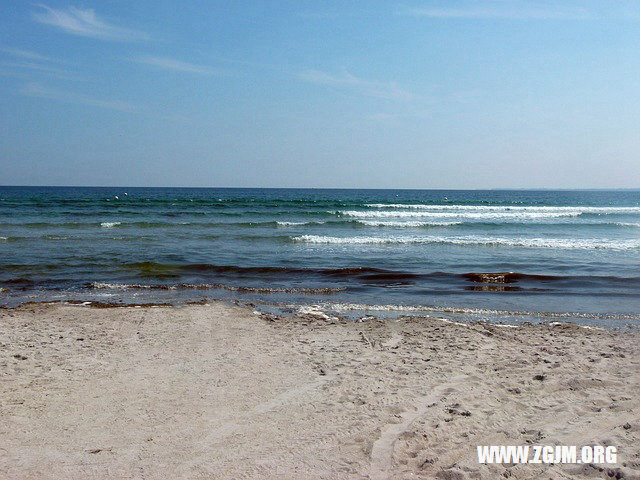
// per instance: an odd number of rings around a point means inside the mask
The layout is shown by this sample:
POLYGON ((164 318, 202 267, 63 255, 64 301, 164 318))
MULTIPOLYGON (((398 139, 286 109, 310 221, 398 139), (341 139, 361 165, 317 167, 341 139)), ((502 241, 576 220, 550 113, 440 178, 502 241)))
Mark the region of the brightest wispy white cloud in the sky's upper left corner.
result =
POLYGON ((52 25, 72 35, 105 40, 140 40, 148 38, 142 32, 117 27, 101 20, 92 9, 76 7, 58 9, 47 5, 40 5, 40 7, 44 11, 35 13, 33 15, 34 20, 46 25, 52 25))

